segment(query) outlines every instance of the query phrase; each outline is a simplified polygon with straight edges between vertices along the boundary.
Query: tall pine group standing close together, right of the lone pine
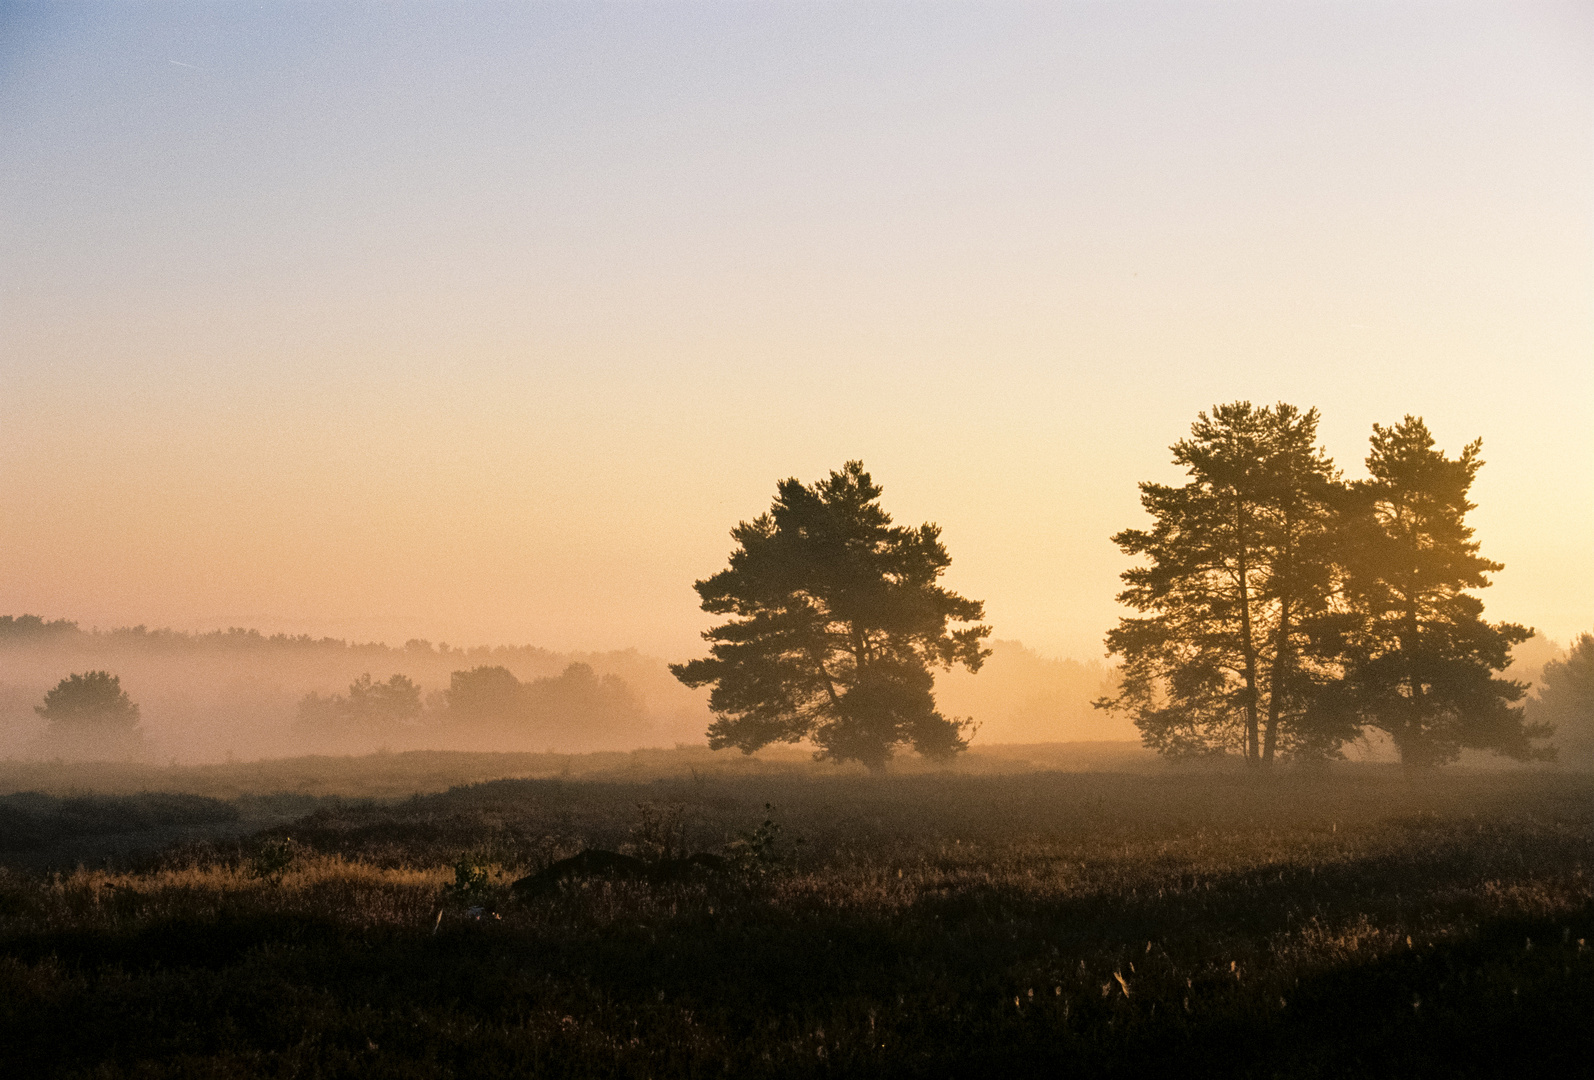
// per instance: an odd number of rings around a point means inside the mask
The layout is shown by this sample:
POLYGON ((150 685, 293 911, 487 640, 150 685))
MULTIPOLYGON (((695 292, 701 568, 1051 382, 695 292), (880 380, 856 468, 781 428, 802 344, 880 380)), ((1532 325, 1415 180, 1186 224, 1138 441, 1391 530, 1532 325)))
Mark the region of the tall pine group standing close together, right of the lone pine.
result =
POLYGON ((1409 765, 1549 757, 1525 683, 1497 674, 1532 631, 1473 596, 1502 569, 1466 526, 1481 443, 1451 457, 1420 417, 1374 425, 1347 483, 1317 424, 1216 406, 1172 448, 1189 479, 1140 486, 1152 526, 1114 537, 1140 559, 1119 594, 1138 615, 1108 634, 1122 683, 1100 704, 1175 755, 1334 757, 1371 728, 1409 765))

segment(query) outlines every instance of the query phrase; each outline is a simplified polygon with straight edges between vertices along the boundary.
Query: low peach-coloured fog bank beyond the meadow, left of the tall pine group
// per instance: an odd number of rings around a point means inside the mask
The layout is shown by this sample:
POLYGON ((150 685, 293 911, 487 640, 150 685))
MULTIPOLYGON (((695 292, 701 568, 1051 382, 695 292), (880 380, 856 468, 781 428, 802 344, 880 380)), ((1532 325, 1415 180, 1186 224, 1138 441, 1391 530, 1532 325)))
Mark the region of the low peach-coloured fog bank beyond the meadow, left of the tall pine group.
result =
MULTIPOLYGON (((940 674, 937 698, 947 715, 980 722, 977 742, 1135 739, 1127 718, 1090 707, 1111 679, 1097 661, 996 642, 977 675, 940 674)), ((0 758, 193 765, 383 749, 630 750, 701 744, 706 702, 665 659, 636 650, 389 647, 242 629, 91 632, 0 616, 0 758), (134 749, 65 744, 35 714, 51 687, 88 671, 118 675, 137 702, 134 749)))

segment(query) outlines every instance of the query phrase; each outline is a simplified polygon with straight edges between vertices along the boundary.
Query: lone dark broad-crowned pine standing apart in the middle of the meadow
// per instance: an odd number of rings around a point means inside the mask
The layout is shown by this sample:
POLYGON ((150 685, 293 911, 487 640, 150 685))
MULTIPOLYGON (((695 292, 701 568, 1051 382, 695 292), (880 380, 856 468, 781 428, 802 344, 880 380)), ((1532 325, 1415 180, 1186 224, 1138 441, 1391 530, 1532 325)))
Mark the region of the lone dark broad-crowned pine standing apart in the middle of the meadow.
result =
POLYGON ((872 771, 904 744, 968 747, 972 722, 936 709, 931 667, 979 671, 983 605, 937 585, 952 564, 940 529, 893 526, 880 495, 862 462, 783 479, 770 511, 732 530, 730 567, 695 585, 705 612, 732 616, 703 634, 708 658, 671 664, 713 687, 711 747, 813 739, 816 758, 872 771))

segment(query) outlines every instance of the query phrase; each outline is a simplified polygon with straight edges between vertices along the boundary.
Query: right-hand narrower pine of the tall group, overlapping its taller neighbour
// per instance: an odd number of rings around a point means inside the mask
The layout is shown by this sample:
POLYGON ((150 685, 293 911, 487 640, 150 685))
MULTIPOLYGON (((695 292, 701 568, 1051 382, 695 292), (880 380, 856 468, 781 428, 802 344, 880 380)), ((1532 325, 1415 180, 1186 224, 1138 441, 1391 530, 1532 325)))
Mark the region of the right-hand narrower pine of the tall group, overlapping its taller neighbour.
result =
POLYGON ((1548 758, 1553 750, 1533 745, 1548 728, 1516 704, 1527 685, 1494 674, 1532 631, 1484 621, 1471 594, 1503 569, 1478 554, 1466 526, 1482 441, 1452 459, 1408 416, 1374 424, 1371 443, 1371 476, 1352 487, 1344 534, 1345 674, 1328 701, 1387 731, 1406 765, 1439 765, 1462 749, 1548 758))

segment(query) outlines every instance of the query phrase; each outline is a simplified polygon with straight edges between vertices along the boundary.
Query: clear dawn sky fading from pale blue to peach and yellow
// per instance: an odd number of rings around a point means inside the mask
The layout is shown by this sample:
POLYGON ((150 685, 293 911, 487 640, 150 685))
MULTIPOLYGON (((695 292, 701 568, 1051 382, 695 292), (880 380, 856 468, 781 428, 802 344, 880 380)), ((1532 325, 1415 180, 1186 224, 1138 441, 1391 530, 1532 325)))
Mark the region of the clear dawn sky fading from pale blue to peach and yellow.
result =
POLYGON ((1097 658, 1240 398, 1594 629, 1594 10, 0 0, 0 612, 684 659, 862 459, 1097 658))

